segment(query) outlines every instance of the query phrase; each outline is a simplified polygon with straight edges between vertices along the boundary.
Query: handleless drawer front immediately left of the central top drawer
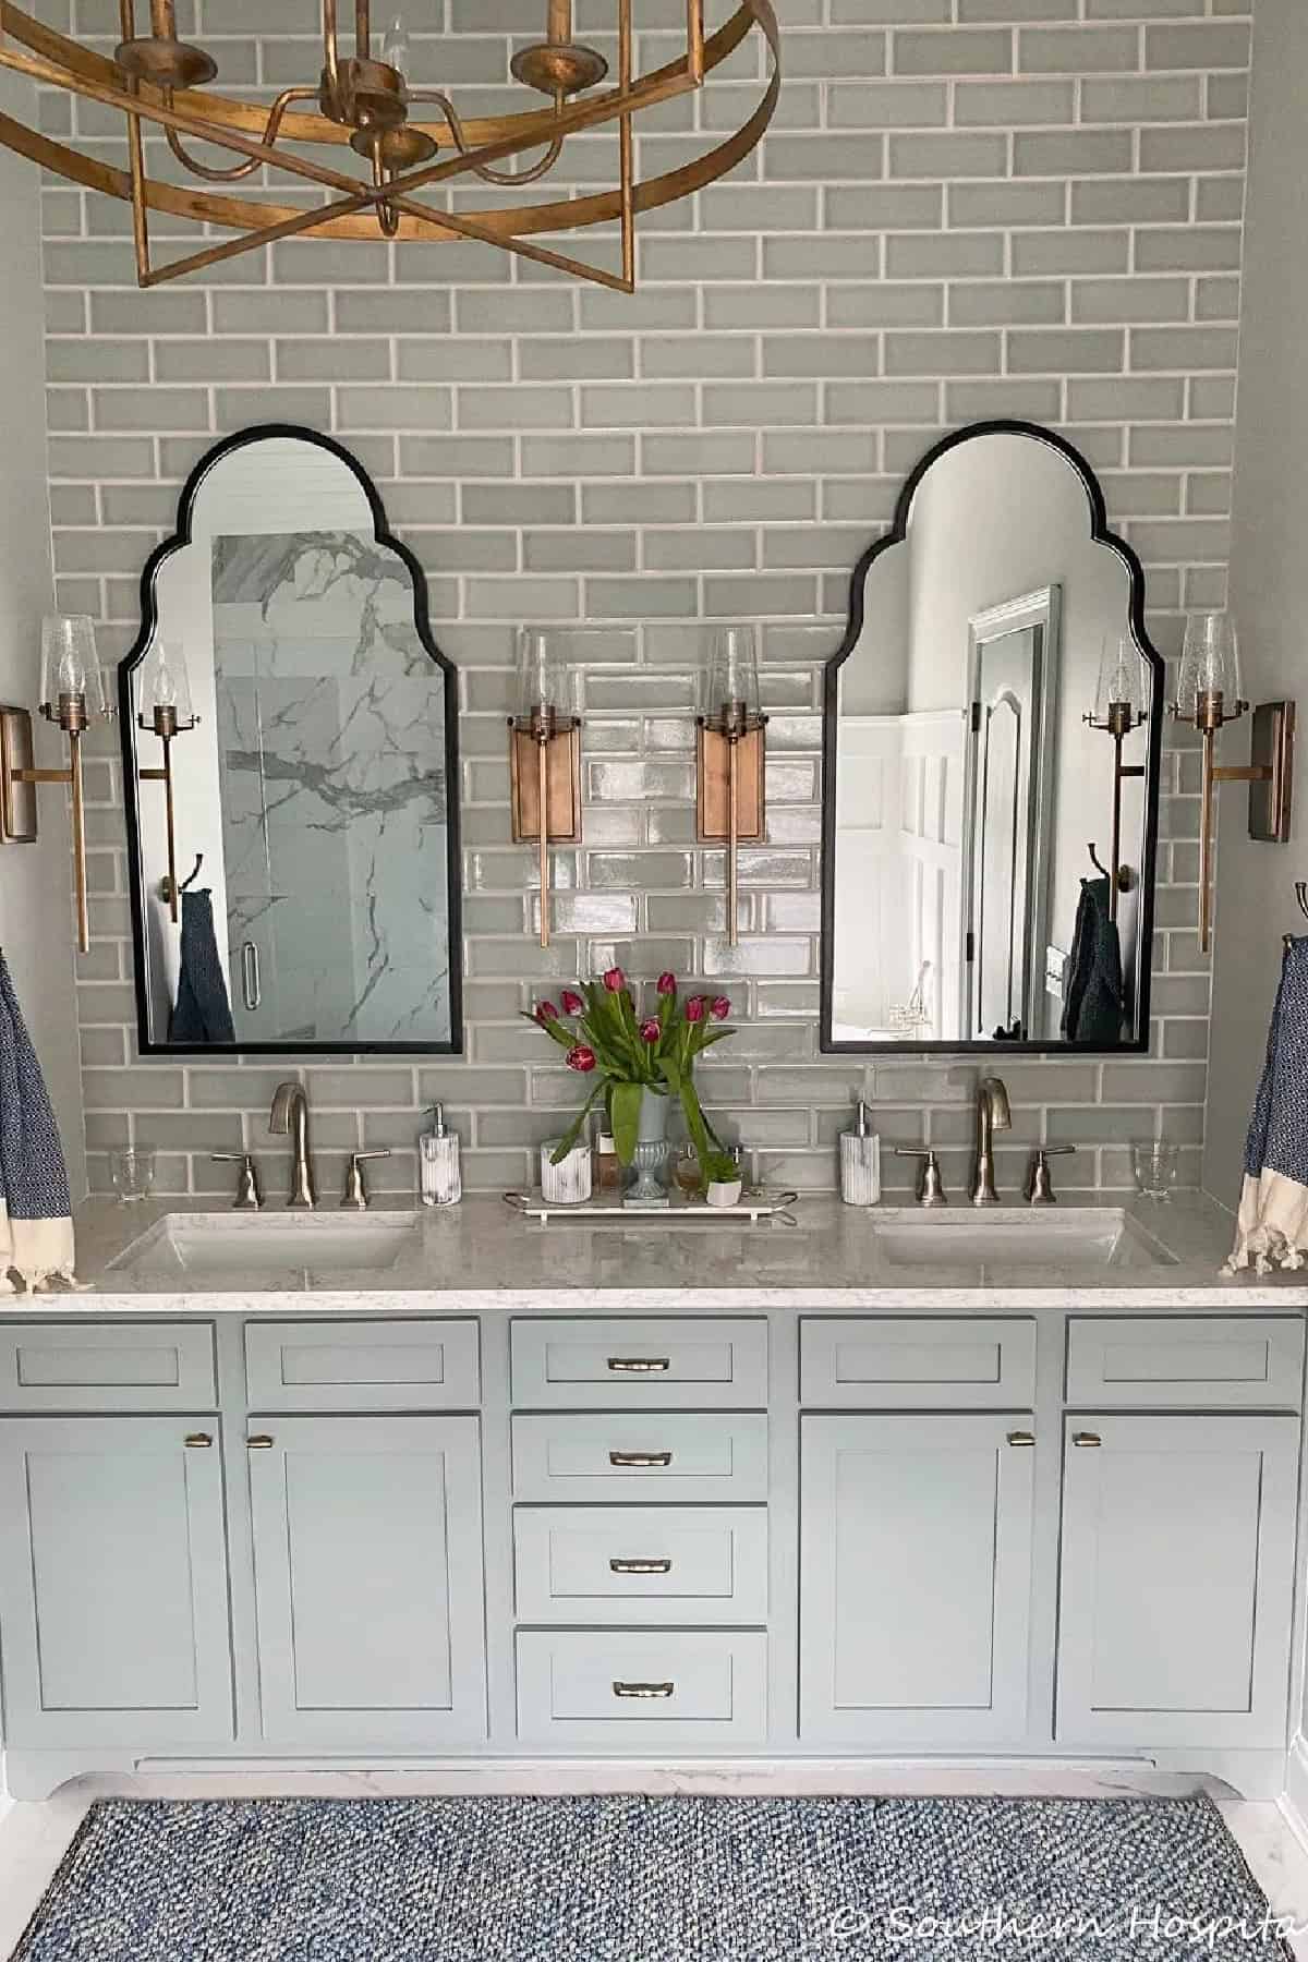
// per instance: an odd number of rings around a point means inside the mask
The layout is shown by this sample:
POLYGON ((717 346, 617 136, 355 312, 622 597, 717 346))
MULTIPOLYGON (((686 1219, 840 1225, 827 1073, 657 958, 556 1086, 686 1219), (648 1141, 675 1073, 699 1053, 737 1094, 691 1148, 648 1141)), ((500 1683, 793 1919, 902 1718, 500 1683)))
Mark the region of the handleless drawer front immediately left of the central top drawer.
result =
POLYGON ((255 1409, 467 1409, 477 1322, 249 1322, 245 1381, 255 1409))

